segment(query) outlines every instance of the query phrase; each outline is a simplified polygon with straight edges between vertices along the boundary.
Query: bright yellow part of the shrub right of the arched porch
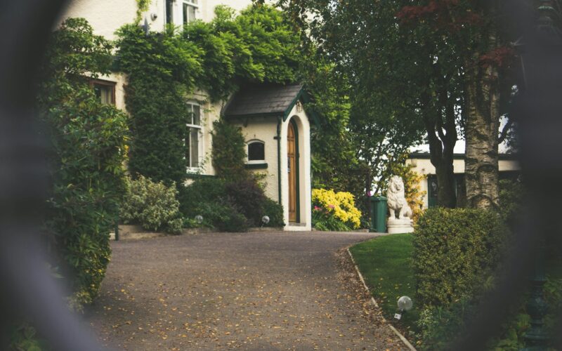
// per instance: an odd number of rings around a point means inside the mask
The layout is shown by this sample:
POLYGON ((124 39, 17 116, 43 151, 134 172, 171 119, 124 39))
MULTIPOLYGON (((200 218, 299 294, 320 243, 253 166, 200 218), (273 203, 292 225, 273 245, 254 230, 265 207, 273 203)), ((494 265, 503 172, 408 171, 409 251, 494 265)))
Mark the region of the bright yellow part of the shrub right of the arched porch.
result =
POLYGON ((349 192, 334 192, 334 190, 313 189, 312 202, 315 210, 320 208, 332 214, 353 229, 361 224, 361 211, 355 207, 355 197, 349 192))

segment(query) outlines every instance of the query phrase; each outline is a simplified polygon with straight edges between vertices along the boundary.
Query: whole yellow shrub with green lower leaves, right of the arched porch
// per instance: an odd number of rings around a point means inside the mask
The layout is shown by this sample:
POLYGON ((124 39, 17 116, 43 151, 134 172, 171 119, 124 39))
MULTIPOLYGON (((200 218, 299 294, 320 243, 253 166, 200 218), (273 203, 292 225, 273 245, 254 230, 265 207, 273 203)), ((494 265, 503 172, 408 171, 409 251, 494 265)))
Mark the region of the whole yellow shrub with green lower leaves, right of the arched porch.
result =
POLYGON ((355 208, 355 199, 349 192, 313 189, 312 203, 313 225, 319 230, 343 231, 357 229, 361 225, 361 212, 355 208))

